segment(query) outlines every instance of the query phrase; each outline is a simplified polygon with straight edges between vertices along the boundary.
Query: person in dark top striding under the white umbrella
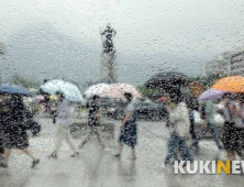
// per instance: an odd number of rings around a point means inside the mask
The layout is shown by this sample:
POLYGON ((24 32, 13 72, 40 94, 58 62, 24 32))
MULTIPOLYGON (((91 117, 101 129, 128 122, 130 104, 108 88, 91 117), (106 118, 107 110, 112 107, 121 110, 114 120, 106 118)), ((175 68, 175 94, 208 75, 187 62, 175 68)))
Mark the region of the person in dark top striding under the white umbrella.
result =
POLYGON ((90 140, 90 138, 95 134, 98 139, 99 144, 101 145, 102 150, 104 148, 104 144, 101 141, 101 135, 99 133, 100 127, 100 116, 103 112, 103 109, 99 107, 100 97, 95 95, 90 102, 88 102, 88 127, 89 127, 89 134, 85 139, 84 142, 79 145, 79 148, 82 148, 84 145, 90 140))

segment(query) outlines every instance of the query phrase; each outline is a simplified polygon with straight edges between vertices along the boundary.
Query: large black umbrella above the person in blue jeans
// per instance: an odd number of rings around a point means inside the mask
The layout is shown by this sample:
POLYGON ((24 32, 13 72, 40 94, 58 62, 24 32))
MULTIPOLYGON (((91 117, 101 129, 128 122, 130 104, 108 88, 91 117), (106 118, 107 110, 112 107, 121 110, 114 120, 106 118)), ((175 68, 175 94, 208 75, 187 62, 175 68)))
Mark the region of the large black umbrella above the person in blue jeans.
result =
POLYGON ((190 79, 181 73, 159 73, 146 81, 147 88, 162 88, 166 91, 179 89, 190 82, 190 79))

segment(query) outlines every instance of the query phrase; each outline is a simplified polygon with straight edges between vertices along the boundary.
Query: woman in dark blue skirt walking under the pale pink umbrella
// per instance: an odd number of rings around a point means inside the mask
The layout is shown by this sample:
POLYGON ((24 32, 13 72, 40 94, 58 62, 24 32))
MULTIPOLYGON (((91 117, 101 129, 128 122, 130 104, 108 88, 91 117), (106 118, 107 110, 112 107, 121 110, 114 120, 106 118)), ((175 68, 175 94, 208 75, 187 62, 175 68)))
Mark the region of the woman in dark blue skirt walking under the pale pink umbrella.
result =
POLYGON ((126 144, 132 148, 132 158, 136 160, 135 156, 135 145, 137 144, 137 123, 136 123, 136 114, 135 109, 132 103, 133 96, 130 92, 125 92, 124 97, 126 99, 126 108, 124 110, 124 117, 121 124, 121 134, 119 138, 119 153, 114 155, 115 157, 121 156, 121 151, 123 144, 126 144))

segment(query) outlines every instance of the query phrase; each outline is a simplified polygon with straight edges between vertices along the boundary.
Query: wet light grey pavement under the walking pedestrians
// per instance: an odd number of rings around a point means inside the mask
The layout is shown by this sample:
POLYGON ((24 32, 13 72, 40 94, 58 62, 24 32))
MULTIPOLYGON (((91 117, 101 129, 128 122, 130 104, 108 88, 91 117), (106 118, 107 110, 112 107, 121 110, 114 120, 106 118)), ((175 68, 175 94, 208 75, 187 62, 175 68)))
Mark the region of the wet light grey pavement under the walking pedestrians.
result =
MULTIPOLYGON (((0 169, 0 187, 162 187, 162 186, 242 186, 242 175, 174 175, 173 169, 163 169, 166 156, 168 131, 164 122, 138 122, 137 160, 131 160, 131 151, 124 146, 121 160, 114 158, 119 121, 114 139, 103 139, 101 150, 92 139, 80 151, 78 158, 71 158, 66 143, 58 160, 48 160, 52 152, 55 127, 51 119, 40 119, 43 131, 30 140, 31 150, 41 158, 41 164, 31 169, 31 160, 14 151, 8 169, 0 169)), ((85 135, 74 139, 78 146, 85 135)), ((214 160, 218 148, 213 141, 201 141, 200 155, 196 160, 214 160)), ((224 160, 224 153, 221 153, 224 160)))

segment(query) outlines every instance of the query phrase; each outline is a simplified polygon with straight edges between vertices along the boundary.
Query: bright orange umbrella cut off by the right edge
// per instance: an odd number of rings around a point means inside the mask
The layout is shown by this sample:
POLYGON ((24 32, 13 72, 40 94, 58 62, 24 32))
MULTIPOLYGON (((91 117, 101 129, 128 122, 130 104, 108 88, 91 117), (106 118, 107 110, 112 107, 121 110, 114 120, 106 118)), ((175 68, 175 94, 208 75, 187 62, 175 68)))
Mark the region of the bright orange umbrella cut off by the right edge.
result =
POLYGON ((213 84, 211 88, 229 92, 244 92, 244 77, 224 77, 213 84))

